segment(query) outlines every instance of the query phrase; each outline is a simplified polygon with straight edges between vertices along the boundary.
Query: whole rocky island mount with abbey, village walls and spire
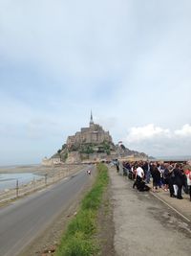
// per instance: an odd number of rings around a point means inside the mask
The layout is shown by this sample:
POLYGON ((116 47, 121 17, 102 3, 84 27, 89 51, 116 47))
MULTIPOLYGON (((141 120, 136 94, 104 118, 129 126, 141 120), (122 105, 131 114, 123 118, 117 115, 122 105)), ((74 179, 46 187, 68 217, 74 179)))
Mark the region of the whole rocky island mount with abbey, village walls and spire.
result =
POLYGON ((62 145, 61 150, 54 153, 51 158, 45 157, 42 160, 42 165, 93 163, 117 157, 133 157, 135 160, 136 158, 143 159, 147 155, 138 151, 130 151, 123 145, 115 146, 109 131, 105 131, 94 123, 91 111, 89 128, 81 128, 74 135, 68 136, 66 144, 62 145))

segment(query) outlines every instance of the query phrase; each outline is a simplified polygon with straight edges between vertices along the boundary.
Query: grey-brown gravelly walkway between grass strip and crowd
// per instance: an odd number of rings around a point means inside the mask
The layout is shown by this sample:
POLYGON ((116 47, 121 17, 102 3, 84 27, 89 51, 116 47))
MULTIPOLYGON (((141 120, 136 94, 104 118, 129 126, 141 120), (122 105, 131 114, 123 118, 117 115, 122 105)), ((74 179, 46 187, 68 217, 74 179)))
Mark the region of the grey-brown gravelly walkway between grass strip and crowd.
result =
POLYGON ((118 175, 115 167, 109 169, 109 174, 117 256, 190 255, 191 202, 169 197, 168 203, 174 208, 178 202, 180 208, 189 202, 184 208, 186 221, 152 193, 133 189, 132 181, 118 175))

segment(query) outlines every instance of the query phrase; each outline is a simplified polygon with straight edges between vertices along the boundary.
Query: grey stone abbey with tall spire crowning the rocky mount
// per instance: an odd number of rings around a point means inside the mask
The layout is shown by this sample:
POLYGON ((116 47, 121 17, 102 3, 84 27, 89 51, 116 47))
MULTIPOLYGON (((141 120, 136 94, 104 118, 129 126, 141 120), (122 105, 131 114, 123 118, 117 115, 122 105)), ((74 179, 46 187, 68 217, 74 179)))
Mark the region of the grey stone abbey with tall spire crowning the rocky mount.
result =
POLYGON ((69 136, 67 139, 67 147, 70 150, 72 146, 89 143, 98 145, 104 141, 113 143, 112 136, 109 131, 105 131, 101 126, 94 123, 91 112, 89 128, 81 128, 81 130, 77 131, 73 136, 69 136))

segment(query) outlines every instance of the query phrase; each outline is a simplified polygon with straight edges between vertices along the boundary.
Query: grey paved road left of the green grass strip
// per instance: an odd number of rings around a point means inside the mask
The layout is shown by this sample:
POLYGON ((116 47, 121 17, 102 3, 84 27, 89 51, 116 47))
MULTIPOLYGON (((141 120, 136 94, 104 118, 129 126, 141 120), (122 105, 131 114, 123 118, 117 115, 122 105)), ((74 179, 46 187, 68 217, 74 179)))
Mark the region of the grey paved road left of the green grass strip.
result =
POLYGON ((72 203, 89 181, 85 169, 50 189, 0 209, 0 256, 17 255, 72 203))

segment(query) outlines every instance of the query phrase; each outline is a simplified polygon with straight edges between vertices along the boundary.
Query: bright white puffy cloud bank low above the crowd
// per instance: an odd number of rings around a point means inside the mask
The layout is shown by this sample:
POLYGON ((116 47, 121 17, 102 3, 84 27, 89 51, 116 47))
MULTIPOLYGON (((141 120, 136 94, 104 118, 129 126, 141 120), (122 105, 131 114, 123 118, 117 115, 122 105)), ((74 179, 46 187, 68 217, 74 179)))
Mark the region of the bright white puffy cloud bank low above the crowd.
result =
POLYGON ((154 124, 131 128, 123 140, 126 146, 150 155, 190 155, 191 126, 177 130, 159 128, 154 124))

